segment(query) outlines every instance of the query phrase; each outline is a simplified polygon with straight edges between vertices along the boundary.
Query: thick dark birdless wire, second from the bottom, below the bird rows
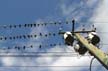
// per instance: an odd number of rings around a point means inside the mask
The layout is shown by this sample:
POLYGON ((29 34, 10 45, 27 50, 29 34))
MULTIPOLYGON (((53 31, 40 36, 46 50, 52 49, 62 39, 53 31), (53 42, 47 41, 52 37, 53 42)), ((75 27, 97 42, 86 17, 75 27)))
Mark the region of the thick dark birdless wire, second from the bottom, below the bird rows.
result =
MULTIPOLYGON (((0 57, 77 57, 78 54, 71 53, 71 54, 52 54, 52 55, 45 55, 45 54, 0 54, 0 57)), ((87 57, 90 55, 84 55, 83 57, 87 57)))

